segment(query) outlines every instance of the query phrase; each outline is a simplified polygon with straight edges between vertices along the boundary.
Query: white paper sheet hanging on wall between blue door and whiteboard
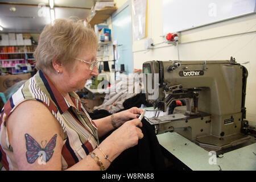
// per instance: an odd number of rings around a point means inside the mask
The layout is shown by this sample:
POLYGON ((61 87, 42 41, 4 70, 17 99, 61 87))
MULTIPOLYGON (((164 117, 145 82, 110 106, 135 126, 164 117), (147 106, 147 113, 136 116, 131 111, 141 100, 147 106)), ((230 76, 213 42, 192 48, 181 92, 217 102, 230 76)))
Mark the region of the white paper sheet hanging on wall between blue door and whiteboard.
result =
POLYGON ((134 40, 143 39, 146 36, 147 0, 133 0, 131 10, 133 12, 134 40))

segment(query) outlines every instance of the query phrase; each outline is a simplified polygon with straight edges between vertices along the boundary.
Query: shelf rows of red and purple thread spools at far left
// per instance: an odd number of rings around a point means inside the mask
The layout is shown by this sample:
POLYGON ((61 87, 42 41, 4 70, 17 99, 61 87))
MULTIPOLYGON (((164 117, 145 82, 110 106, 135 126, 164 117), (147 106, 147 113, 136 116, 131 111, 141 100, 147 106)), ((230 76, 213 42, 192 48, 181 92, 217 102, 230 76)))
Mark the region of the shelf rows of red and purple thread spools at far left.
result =
POLYGON ((2 72, 11 74, 27 72, 26 64, 30 64, 33 69, 35 67, 34 51, 35 46, 0 46, 2 72), (19 64, 19 69, 15 68, 16 64, 19 64))

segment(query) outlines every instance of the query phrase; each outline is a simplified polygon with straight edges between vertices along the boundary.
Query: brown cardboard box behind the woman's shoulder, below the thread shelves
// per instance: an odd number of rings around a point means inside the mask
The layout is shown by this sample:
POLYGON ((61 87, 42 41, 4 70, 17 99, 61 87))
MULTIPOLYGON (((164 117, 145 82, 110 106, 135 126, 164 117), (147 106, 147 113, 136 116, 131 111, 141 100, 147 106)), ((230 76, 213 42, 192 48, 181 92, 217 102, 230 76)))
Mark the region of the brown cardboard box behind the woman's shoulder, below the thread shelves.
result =
POLYGON ((5 92, 5 90, 16 84, 16 82, 28 80, 30 77, 30 73, 0 76, 0 92, 5 92))

